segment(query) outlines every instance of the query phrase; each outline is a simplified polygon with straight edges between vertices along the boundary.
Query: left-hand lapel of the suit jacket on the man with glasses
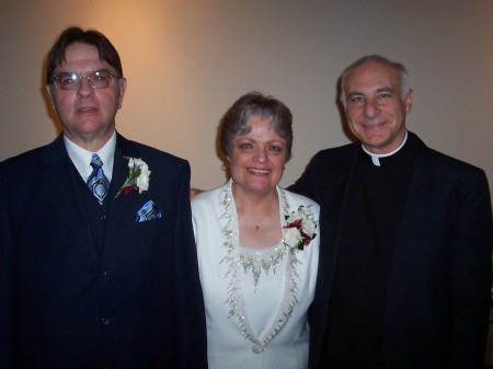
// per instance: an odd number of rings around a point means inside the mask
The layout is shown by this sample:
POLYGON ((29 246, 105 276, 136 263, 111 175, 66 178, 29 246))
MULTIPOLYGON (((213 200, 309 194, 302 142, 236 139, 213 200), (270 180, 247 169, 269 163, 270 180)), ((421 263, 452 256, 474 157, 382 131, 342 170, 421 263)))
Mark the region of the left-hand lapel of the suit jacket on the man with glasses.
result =
POLYGON ((90 224, 82 206, 82 198, 74 187, 76 181, 81 178, 77 176, 61 135, 47 147, 39 160, 48 168, 41 174, 41 191, 50 199, 60 215, 59 218, 79 241, 81 247, 87 249, 89 254, 99 261, 96 245, 91 232, 87 231, 90 224))

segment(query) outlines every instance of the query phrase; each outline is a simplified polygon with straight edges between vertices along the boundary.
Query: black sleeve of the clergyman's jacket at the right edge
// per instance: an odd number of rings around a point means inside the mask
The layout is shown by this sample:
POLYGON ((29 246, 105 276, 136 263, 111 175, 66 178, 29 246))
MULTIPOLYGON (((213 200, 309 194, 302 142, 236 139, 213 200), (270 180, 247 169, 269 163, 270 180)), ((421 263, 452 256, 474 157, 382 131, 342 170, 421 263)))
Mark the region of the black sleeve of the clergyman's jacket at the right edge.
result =
POLYGON ((483 171, 470 182, 452 230, 450 368, 482 368, 492 284, 492 208, 483 171))

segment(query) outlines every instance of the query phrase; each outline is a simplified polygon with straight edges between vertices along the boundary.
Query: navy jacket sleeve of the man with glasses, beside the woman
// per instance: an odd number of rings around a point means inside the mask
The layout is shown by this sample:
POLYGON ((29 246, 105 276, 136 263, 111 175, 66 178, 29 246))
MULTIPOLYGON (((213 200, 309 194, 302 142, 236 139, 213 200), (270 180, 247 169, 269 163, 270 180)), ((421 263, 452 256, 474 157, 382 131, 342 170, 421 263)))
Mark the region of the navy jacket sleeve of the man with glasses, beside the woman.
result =
POLYGON ((174 232, 175 296, 179 368, 207 368, 207 334, 204 298, 198 276, 197 253, 190 204, 190 165, 182 171, 176 194, 174 232))

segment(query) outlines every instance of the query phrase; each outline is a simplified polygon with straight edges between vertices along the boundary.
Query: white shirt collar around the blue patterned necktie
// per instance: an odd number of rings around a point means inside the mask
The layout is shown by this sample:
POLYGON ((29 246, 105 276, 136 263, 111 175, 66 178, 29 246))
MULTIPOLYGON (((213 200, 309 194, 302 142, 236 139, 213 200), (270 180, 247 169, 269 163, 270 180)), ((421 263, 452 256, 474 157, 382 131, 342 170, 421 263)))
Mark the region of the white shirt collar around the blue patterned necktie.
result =
MULTIPOLYGON (((67 152, 70 157, 70 160, 72 161, 73 165, 76 165, 76 169, 79 172, 82 180, 85 181, 92 172, 91 157, 94 152, 82 149, 80 146, 70 141, 65 135, 64 135, 64 142, 65 147, 67 148, 67 152)), ((110 182, 112 181, 113 175, 115 147, 116 147, 116 131, 114 131, 112 137, 107 140, 107 142, 104 143, 104 146, 100 150, 98 150, 98 152, 95 152, 103 162, 104 175, 106 175, 110 182)))

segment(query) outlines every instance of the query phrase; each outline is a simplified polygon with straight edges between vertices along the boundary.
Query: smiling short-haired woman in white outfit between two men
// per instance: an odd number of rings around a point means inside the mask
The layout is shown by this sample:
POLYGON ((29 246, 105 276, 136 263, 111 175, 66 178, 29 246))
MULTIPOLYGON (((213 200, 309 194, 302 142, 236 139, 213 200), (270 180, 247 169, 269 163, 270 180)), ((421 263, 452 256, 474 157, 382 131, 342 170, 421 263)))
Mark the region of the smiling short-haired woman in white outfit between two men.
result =
POLYGON ((278 186, 293 117, 253 92, 221 120, 231 178, 192 201, 210 369, 303 369, 319 206, 278 186))

